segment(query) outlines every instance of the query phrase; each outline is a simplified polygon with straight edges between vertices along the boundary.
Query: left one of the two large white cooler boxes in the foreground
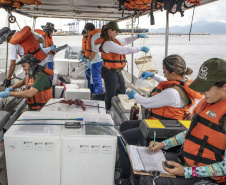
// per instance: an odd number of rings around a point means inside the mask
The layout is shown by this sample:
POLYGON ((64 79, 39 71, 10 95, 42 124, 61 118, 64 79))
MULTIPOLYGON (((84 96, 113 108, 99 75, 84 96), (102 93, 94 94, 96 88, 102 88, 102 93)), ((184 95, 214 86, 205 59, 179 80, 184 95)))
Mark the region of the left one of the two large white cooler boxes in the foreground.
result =
MULTIPOLYGON (((29 115, 34 119, 30 111, 23 115, 29 115)), ((20 119, 24 117, 23 115, 20 119)), ((57 114, 53 113, 51 116, 57 118, 57 114)), ((39 118, 42 117, 42 113, 39 112, 39 118)), ((15 124, 24 123, 28 122, 15 122, 15 124)), ((57 125, 10 127, 4 135, 8 185, 60 185, 62 127, 57 125)))

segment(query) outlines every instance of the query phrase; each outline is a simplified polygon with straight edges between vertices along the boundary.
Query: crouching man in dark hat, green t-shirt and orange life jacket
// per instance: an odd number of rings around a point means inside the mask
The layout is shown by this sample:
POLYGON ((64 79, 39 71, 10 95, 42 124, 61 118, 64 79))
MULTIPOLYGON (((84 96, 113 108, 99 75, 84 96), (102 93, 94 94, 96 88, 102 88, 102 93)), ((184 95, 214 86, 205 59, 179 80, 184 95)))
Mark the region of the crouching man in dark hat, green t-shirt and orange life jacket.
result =
POLYGON ((41 60, 35 58, 32 54, 24 55, 16 64, 23 67, 26 77, 18 83, 0 92, 1 98, 8 96, 26 98, 29 110, 41 109, 52 98, 52 81, 50 75, 53 75, 51 69, 38 65, 41 60), (26 86, 25 91, 14 91, 16 88, 26 86))

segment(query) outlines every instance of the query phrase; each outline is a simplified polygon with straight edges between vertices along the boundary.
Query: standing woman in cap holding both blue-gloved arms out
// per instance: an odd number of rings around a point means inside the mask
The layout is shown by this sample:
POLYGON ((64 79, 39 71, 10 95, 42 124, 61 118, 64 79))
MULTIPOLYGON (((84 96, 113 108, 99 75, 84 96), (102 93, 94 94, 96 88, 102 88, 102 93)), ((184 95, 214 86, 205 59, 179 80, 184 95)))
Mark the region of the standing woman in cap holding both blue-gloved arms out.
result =
POLYGON ((101 68, 101 76, 105 83, 105 105, 107 112, 110 112, 111 99, 117 94, 125 94, 125 80, 121 73, 126 65, 126 54, 133 54, 139 51, 147 53, 149 48, 142 47, 126 47, 138 38, 147 37, 145 34, 138 34, 124 39, 116 38, 118 33, 122 31, 118 24, 114 21, 108 22, 101 29, 100 39, 95 44, 101 44, 100 51, 103 59, 103 67, 101 68))

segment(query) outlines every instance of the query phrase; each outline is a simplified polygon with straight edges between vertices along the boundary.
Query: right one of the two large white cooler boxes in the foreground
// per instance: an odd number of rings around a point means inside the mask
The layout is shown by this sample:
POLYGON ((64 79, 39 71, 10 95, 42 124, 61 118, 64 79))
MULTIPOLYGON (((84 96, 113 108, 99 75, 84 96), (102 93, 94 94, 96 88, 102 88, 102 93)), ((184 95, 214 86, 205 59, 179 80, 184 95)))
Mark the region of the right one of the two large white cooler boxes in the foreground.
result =
POLYGON ((86 127, 62 131, 61 185, 113 185, 117 137, 86 127))

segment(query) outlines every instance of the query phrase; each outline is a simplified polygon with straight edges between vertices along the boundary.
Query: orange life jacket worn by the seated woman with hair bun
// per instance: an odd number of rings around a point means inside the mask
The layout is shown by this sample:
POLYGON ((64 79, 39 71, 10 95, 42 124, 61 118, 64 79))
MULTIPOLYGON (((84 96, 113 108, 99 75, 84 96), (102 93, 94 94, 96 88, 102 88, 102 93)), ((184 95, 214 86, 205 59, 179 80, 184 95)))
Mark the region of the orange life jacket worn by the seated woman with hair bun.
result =
POLYGON ((184 108, 177 107, 160 107, 160 108, 152 108, 149 109, 150 117, 149 119, 176 119, 176 120, 186 120, 188 119, 188 115, 190 113, 190 107, 195 104, 195 98, 201 99, 203 96, 200 93, 193 91, 188 87, 190 83, 185 83, 182 81, 163 81, 158 84, 154 91, 154 95, 160 93, 162 90, 172 87, 179 86, 183 88, 188 98, 190 99, 190 103, 186 105, 184 108))

